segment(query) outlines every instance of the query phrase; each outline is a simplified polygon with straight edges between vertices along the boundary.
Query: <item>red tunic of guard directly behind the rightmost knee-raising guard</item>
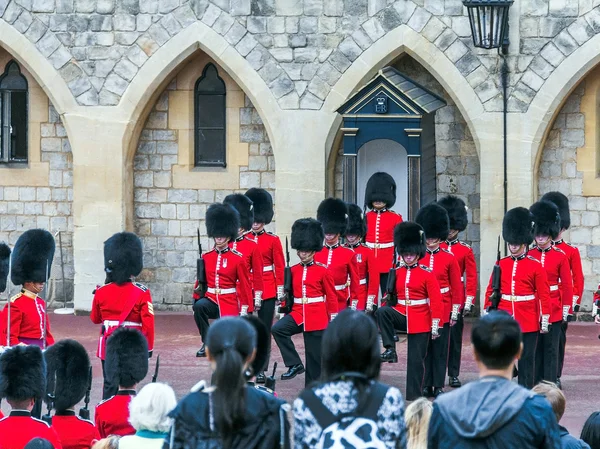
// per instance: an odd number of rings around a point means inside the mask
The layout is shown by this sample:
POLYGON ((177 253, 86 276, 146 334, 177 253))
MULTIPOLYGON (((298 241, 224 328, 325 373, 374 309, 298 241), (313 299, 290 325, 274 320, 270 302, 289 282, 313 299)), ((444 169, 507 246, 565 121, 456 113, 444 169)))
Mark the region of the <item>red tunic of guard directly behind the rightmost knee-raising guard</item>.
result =
POLYGON ((450 321, 452 306, 458 305, 460 307, 465 303, 465 290, 460 280, 458 262, 451 252, 438 248, 434 251, 427 250, 419 263, 433 271, 437 278, 444 302, 444 316, 440 323, 441 326, 450 321))

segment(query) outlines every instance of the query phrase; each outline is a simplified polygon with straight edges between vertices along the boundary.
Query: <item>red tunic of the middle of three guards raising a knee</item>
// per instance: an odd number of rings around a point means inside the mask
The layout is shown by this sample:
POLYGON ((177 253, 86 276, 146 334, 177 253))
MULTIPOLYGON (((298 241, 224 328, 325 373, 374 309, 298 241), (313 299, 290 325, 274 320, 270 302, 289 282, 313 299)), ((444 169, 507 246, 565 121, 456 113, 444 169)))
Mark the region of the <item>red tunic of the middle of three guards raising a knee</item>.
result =
POLYGON ((304 332, 327 328, 331 315, 338 312, 333 277, 325 265, 310 262, 292 266, 294 306, 291 316, 304 332))

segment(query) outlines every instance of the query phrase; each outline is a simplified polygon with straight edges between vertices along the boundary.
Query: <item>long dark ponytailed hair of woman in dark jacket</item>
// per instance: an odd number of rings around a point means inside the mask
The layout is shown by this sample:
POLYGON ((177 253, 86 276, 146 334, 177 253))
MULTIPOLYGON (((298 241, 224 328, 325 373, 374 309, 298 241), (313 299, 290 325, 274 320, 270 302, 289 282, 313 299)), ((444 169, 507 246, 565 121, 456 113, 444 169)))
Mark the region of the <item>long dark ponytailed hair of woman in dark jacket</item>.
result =
POLYGON ((215 426, 227 449, 245 424, 244 365, 256 348, 256 331, 246 320, 222 318, 210 326, 206 346, 216 365, 212 378, 215 426))

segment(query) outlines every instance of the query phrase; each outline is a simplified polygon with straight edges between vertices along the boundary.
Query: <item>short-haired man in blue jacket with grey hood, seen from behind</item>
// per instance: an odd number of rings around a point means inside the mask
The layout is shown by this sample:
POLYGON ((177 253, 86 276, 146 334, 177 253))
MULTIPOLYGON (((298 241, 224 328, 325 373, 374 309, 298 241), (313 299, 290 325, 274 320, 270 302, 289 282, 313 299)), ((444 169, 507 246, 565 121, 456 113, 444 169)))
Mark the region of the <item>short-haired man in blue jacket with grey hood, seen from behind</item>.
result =
POLYGON ((480 379, 436 399, 428 447, 559 448, 550 404, 511 382, 523 350, 519 323, 506 312, 490 312, 473 325, 471 344, 480 379))

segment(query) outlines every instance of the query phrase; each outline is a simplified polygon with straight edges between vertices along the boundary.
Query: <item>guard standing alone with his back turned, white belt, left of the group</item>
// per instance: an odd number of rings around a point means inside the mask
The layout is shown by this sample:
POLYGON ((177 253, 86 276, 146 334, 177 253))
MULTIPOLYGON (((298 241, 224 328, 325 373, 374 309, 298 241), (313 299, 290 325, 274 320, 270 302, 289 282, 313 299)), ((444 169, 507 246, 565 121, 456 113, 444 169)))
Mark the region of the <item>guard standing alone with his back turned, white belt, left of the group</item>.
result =
POLYGON ((101 324, 96 356, 102 360, 104 386, 102 399, 117 392, 106 376, 106 344, 119 327, 140 330, 148 341, 149 356, 154 348, 154 306, 150 290, 134 281, 144 268, 141 240, 131 232, 119 232, 104 242, 106 284, 94 292, 90 319, 101 324))

